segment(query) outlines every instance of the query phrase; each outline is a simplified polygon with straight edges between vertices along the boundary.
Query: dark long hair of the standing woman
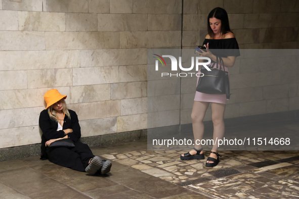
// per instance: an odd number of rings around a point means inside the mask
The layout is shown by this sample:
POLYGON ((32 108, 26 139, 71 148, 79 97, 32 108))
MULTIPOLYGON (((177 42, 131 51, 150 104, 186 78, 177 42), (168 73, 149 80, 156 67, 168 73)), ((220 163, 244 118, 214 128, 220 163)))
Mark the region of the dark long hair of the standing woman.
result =
POLYGON ((230 24, 228 22, 228 15, 227 12, 223 8, 215 8, 211 10, 211 12, 207 16, 207 33, 213 38, 214 32, 212 31, 209 25, 209 19, 215 17, 216 19, 221 20, 221 34, 226 34, 231 32, 230 24))

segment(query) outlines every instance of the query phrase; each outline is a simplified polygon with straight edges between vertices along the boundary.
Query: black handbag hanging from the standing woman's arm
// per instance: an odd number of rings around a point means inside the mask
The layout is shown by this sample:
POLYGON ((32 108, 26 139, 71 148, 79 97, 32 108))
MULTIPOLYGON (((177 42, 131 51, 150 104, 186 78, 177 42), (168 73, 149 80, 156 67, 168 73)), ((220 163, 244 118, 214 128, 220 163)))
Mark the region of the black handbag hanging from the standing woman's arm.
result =
POLYGON ((217 57, 216 68, 215 62, 210 65, 210 70, 201 69, 203 76, 199 78, 196 91, 206 94, 226 94, 226 99, 230 98, 230 86, 228 71, 225 71, 224 62, 221 57, 217 57), (218 69, 218 58, 220 60, 220 67, 218 69), (221 70, 221 63, 223 70, 221 70))

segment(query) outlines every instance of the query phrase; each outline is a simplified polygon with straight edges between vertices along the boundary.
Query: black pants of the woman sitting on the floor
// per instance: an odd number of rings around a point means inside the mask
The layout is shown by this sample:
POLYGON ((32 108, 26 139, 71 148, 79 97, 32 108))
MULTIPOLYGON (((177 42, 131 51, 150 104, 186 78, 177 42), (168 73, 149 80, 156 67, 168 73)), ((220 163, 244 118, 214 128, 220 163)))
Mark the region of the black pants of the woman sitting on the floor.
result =
POLYGON ((87 144, 75 142, 75 147, 46 148, 50 162, 76 171, 85 171, 90 159, 95 157, 87 144))

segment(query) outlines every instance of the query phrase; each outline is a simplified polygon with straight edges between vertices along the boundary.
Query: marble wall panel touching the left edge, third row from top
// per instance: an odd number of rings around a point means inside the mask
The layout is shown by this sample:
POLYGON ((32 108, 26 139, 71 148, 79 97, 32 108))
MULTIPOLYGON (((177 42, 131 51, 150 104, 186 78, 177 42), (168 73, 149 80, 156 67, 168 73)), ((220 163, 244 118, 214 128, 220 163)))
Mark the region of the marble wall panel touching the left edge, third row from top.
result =
POLYGON ((44 32, 0 31, 0 51, 34 51, 45 49, 44 32))

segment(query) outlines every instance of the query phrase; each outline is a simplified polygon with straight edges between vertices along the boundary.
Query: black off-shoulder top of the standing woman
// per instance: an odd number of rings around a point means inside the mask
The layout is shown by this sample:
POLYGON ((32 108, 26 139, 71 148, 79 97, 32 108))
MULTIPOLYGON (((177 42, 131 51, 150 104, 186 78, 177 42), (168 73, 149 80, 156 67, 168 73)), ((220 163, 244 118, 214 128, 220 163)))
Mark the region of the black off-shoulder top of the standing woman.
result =
POLYGON ((236 38, 204 39, 202 45, 206 45, 207 43, 210 52, 218 57, 240 56, 236 38))

